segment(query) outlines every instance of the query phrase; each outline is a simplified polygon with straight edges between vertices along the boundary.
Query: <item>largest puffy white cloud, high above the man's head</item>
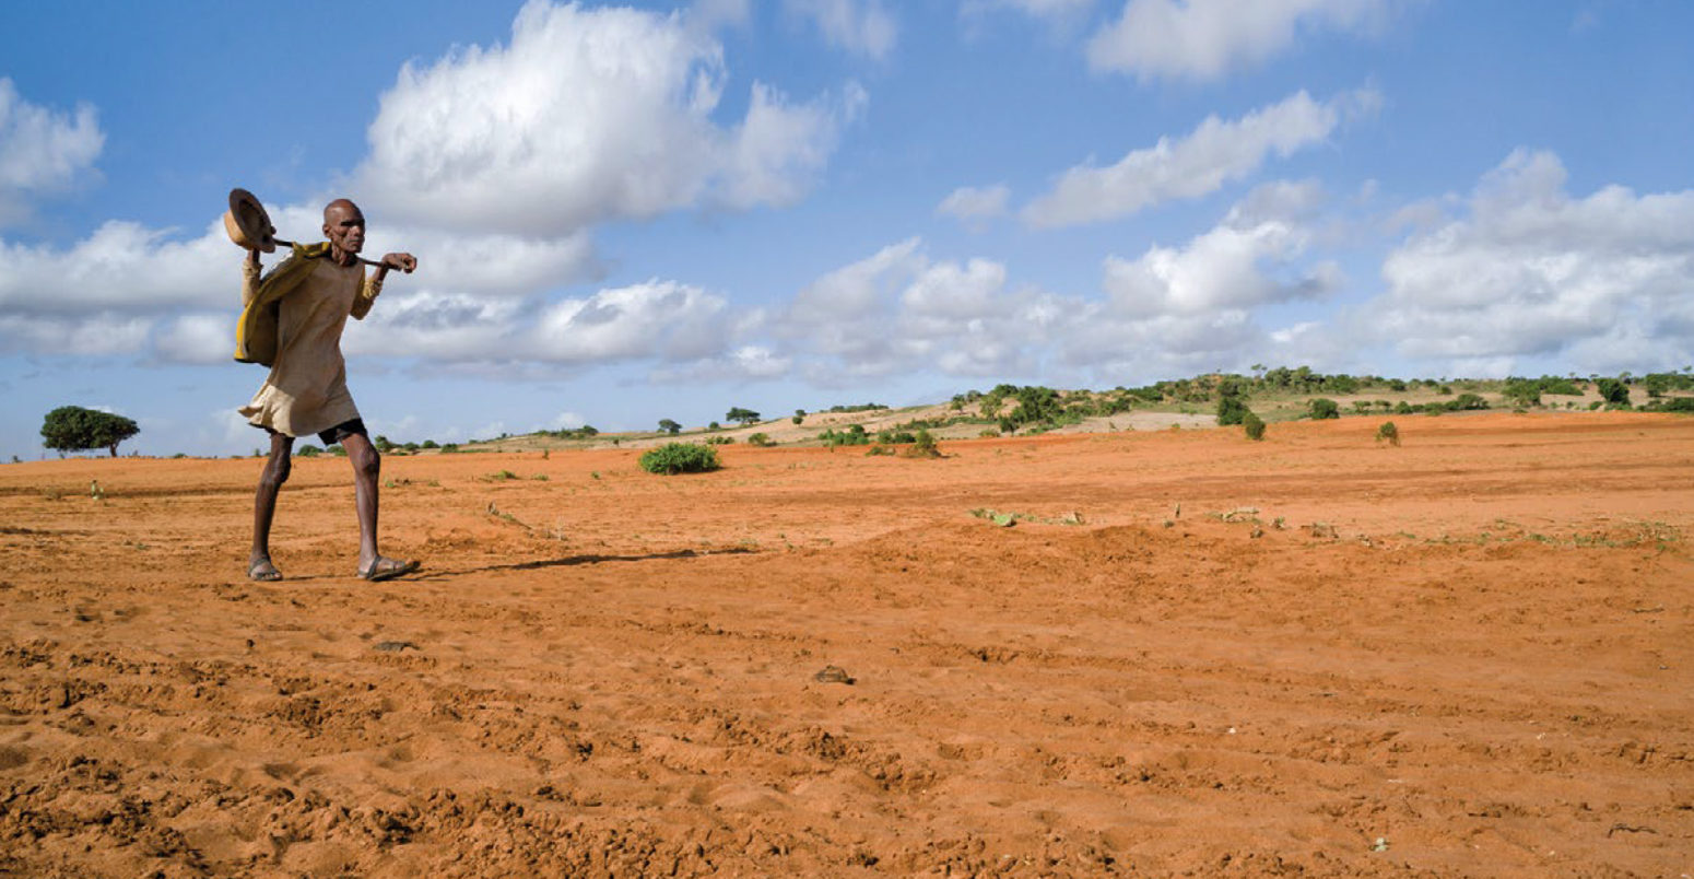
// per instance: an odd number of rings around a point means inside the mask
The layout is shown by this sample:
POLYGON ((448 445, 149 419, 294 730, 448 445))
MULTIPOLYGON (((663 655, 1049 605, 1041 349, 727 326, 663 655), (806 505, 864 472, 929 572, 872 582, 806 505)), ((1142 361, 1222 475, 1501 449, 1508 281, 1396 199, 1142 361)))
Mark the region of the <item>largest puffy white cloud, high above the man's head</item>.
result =
POLYGON ((791 102, 754 83, 740 124, 713 120, 722 46, 688 15, 530 0, 505 46, 407 64, 354 178, 408 225, 569 235, 608 218, 805 191, 864 105, 791 102))

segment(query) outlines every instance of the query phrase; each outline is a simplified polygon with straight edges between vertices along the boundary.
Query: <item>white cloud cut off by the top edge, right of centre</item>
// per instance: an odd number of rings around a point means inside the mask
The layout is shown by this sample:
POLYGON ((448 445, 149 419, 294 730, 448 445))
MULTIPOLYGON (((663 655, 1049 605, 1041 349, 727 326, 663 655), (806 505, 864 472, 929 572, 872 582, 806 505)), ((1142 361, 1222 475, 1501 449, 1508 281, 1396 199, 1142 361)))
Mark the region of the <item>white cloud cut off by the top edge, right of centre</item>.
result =
POLYGON ((1088 44, 1098 71, 1216 80, 1287 49, 1299 32, 1370 32, 1394 0, 1128 0, 1088 44))

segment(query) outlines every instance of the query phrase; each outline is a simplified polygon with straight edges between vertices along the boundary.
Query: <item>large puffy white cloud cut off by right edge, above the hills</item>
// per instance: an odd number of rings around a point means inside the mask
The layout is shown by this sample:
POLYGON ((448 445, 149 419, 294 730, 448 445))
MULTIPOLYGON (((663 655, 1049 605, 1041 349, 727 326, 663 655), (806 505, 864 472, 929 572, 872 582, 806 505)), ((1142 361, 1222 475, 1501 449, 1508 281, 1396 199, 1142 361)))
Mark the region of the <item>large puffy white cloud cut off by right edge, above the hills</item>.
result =
POLYGON ((1560 356, 1587 369, 1670 368, 1694 351, 1694 190, 1574 198, 1552 152, 1514 151, 1460 217, 1382 263, 1364 325, 1401 354, 1447 362, 1560 356))

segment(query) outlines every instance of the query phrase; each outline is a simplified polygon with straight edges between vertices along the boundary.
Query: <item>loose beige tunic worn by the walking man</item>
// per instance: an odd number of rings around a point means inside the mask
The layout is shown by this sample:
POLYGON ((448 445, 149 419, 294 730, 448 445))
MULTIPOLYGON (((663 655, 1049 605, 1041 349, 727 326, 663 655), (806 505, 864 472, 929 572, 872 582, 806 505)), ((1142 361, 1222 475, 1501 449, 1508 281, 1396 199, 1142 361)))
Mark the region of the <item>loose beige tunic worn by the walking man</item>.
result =
MULTIPOLYGON (((298 259, 298 257, 295 257, 298 259)), ((276 366, 239 412, 254 427, 290 437, 329 430, 359 417, 347 393, 347 361, 340 356, 340 330, 347 317, 363 320, 381 291, 364 266, 337 266, 313 259, 312 274, 283 296, 276 315, 276 366)), ((259 290, 259 268, 242 261, 241 301, 259 290)))

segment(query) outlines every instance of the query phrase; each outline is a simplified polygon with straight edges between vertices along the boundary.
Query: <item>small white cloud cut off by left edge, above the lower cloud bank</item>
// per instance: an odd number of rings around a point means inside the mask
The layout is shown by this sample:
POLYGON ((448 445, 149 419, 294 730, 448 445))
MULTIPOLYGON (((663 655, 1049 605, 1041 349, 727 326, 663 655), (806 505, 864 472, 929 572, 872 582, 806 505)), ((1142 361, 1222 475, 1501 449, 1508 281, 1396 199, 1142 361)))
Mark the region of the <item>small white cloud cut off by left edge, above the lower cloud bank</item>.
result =
POLYGON ((36 200, 91 180, 103 146, 93 107, 37 107, 0 76, 0 227, 29 220, 36 200))

